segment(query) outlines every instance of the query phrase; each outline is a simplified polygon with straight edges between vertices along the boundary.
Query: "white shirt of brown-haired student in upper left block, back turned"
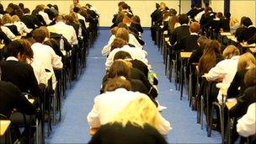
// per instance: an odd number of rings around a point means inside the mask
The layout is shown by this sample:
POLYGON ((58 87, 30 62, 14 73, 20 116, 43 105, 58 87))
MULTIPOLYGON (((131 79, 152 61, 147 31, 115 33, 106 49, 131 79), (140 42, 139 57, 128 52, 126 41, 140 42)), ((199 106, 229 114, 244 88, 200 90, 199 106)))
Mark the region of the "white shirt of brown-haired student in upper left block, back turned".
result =
POLYGON ((75 29, 71 25, 64 22, 57 22, 54 25, 48 26, 50 32, 63 35, 71 45, 77 45, 77 35, 75 29))

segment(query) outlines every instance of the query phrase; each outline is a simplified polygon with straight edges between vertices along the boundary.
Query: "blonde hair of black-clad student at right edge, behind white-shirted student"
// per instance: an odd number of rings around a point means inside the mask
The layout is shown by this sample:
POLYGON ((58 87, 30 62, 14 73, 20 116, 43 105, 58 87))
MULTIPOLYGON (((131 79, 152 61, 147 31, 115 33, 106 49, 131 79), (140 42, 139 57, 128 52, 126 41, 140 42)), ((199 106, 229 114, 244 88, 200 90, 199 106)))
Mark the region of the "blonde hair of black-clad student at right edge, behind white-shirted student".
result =
POLYGON ((250 52, 247 52, 239 57, 237 71, 243 71, 248 67, 256 67, 256 59, 250 52))

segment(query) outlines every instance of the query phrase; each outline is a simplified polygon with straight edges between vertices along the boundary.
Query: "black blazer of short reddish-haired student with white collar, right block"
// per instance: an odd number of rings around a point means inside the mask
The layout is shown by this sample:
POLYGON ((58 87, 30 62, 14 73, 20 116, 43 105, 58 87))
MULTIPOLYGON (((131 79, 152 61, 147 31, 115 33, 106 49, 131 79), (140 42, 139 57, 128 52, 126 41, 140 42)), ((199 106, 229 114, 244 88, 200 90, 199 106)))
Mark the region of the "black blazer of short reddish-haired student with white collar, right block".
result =
POLYGON ((174 51, 193 51, 198 48, 197 40, 200 38, 199 35, 187 35, 180 40, 177 45, 173 47, 174 51))

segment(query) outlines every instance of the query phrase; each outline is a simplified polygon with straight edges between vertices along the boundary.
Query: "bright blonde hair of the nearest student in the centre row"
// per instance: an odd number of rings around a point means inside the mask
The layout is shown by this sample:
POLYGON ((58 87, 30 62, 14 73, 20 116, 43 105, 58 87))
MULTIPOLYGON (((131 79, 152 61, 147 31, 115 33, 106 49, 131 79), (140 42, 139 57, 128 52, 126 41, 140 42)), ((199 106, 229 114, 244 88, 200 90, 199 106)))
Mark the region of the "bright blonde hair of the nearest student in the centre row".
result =
POLYGON ((113 120, 110 120, 110 123, 118 122, 125 127, 130 122, 131 125, 142 128, 145 124, 148 124, 159 130, 157 126, 159 121, 157 115, 160 114, 152 100, 146 95, 140 95, 136 99, 133 99, 119 114, 115 115, 113 120))

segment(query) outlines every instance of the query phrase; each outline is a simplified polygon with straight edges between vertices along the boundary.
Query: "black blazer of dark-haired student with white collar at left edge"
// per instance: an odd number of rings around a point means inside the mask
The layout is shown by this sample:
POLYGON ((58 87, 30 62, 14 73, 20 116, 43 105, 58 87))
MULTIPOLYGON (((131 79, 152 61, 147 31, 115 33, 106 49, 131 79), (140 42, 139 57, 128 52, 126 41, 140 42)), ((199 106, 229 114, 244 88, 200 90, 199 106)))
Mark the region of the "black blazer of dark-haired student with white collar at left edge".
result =
POLYGON ((13 83, 21 92, 40 97, 40 88, 33 68, 24 62, 0 61, 2 80, 13 83))

